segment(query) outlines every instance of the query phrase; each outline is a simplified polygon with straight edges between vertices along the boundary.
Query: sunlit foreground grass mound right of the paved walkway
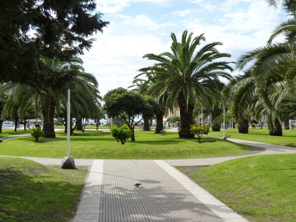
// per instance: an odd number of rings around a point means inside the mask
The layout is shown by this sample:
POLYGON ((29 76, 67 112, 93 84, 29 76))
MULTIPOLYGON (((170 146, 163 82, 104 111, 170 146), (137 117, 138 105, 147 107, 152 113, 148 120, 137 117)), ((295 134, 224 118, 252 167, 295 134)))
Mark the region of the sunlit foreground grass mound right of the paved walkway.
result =
POLYGON ((237 213, 256 222, 296 221, 296 154, 229 160, 191 174, 191 179, 237 213))

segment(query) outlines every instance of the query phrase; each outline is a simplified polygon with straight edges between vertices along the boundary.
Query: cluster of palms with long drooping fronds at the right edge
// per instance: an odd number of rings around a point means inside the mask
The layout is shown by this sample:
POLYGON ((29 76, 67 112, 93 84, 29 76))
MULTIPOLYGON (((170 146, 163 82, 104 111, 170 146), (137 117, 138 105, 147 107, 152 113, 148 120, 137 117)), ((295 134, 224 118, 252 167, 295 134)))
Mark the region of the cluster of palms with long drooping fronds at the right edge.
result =
POLYGON ((296 96, 295 1, 267 2, 274 7, 281 2, 289 17, 276 26, 265 46, 239 57, 235 68, 243 73, 234 77, 223 92, 225 99, 231 98, 232 117, 239 124, 243 125, 250 113, 257 119, 265 113, 270 135, 281 136, 284 117, 280 105, 284 99, 295 100, 296 96), (276 42, 279 35, 284 39, 276 42))

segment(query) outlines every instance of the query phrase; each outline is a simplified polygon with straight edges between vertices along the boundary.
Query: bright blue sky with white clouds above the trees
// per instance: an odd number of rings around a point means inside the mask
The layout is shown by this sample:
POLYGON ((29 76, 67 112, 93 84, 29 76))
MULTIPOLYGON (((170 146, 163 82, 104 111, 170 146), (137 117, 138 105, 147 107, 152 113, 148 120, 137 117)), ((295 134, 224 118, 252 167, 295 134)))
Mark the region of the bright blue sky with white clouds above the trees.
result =
MULTIPOLYGON (((110 25, 97 33, 89 52, 81 56, 86 72, 95 75, 100 95, 128 88, 137 70, 155 62, 148 53, 170 52, 170 34, 178 41, 184 30, 205 33, 205 44, 222 42, 227 61, 266 44, 275 26, 285 19, 282 9, 265 0, 97 0, 102 20, 110 25)), ((198 47, 199 49, 199 47, 198 47)), ((225 59, 226 60, 226 59, 225 59)), ((234 71, 233 75, 239 72, 234 71)))

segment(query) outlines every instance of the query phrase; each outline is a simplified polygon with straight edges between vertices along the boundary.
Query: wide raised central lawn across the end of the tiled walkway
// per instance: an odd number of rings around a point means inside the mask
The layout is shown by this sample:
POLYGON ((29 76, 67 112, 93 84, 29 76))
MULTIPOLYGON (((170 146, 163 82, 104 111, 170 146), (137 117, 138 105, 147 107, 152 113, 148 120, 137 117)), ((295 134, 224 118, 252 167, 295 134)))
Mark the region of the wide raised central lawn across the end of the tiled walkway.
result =
MULTIPOLYGON (((67 154, 67 135, 56 132, 56 139, 32 136, 12 138, 1 143, 0 155, 62 158, 67 154)), ((154 131, 135 131, 135 142, 129 139, 124 145, 116 142, 111 133, 102 131, 75 132, 70 137, 70 155, 85 159, 187 159, 243 154, 254 148, 230 141, 202 137, 179 139, 178 133, 167 132, 167 136, 154 131)))

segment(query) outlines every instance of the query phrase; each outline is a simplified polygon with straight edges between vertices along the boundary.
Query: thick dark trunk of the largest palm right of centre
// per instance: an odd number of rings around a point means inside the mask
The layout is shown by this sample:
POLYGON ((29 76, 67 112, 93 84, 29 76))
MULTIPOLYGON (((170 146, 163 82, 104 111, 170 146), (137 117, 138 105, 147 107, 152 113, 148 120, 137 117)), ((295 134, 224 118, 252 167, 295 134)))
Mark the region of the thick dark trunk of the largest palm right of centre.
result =
POLYGON ((179 131, 180 138, 194 138, 194 134, 190 133, 190 125, 194 124, 193 120, 193 110, 194 105, 188 104, 188 108, 186 110, 185 99, 183 93, 180 93, 178 96, 178 105, 180 109, 180 118, 181 118, 181 126, 179 131))

